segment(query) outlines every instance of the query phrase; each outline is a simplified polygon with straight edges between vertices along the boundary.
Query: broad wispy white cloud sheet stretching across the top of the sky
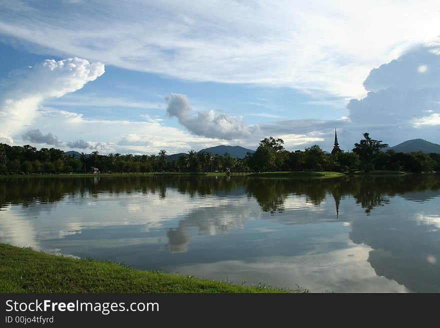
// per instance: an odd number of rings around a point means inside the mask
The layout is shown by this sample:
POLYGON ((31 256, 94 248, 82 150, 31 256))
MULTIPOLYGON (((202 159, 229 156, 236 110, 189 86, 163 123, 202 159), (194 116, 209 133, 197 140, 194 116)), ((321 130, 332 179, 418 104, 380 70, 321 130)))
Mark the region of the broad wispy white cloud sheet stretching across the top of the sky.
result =
POLYGON ((0 33, 35 52, 349 97, 364 94, 360 83, 371 67, 434 40, 440 27, 433 0, 372 0, 361 10, 347 0, 106 1, 105 9, 86 1, 75 4, 75 15, 69 7, 14 2, 1 5, 0 33))

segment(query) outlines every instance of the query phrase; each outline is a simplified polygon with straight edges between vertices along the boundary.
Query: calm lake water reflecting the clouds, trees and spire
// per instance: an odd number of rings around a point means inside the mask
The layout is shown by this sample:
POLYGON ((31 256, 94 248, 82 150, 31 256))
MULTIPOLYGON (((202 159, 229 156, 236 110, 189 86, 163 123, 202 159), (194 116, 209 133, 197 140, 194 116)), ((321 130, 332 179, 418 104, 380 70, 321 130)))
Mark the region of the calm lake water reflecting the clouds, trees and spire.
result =
POLYGON ((440 292, 440 176, 3 178, 0 242, 312 292, 440 292))

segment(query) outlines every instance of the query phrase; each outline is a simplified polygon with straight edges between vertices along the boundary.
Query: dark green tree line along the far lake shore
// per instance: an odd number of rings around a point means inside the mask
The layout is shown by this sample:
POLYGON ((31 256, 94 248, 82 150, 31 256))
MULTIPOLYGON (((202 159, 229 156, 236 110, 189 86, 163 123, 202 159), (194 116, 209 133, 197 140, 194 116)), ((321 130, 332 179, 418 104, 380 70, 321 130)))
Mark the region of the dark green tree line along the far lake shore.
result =
POLYGON ((88 173, 97 168, 105 173, 147 172, 268 172, 268 171, 372 171, 399 170, 408 172, 440 171, 440 154, 423 152, 396 153, 381 140, 363 134, 349 152, 328 154, 318 145, 304 150, 288 151, 282 139, 272 137, 260 141, 254 153, 233 158, 228 153, 212 155, 195 152, 168 161, 166 151, 157 155, 100 155, 98 151, 67 155, 60 149, 30 145, 10 146, 0 143, 0 174, 88 173))

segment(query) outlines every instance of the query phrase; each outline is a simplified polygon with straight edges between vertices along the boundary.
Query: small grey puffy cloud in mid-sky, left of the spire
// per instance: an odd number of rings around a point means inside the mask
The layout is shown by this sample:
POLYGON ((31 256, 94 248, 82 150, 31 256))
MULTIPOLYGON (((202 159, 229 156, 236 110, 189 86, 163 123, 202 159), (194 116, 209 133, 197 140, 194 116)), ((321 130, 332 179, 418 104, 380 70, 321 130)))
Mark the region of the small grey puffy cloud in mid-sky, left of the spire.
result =
POLYGON ((232 140, 247 138, 258 131, 258 127, 244 123, 242 116, 230 116, 213 109, 194 113, 184 94, 171 93, 165 101, 168 115, 177 117, 179 123, 195 135, 232 140))

